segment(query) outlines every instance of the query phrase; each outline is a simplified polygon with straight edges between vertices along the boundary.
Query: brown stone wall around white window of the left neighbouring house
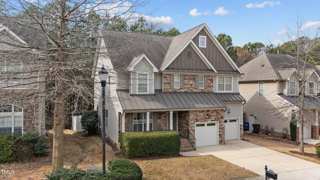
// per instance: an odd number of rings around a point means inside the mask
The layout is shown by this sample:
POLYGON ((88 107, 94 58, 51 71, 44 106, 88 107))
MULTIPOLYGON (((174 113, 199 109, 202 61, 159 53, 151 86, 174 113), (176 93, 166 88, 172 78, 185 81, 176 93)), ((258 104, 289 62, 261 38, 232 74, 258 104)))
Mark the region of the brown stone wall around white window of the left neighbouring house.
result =
POLYGON ((0 104, 9 103, 23 108, 23 133, 39 132, 44 127, 44 104, 28 89, 1 89, 0 104), (21 98, 23 97, 23 98, 21 98))

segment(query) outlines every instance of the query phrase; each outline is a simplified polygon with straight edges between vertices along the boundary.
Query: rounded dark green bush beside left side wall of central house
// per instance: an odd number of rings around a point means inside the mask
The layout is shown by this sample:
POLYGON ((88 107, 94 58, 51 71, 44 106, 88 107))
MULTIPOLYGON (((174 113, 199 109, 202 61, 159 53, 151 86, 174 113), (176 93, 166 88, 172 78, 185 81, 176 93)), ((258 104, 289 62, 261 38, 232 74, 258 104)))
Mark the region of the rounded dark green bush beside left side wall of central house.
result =
POLYGON ((81 117, 81 126, 84 132, 93 134, 97 132, 98 127, 98 111, 88 110, 81 117))

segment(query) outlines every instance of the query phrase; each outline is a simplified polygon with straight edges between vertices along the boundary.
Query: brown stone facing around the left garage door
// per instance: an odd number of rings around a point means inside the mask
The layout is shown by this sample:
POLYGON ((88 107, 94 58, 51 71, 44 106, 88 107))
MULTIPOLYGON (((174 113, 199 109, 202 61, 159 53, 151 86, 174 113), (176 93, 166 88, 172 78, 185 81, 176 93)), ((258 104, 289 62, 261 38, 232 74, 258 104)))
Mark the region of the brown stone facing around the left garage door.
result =
POLYGON ((195 122, 219 122, 219 144, 224 144, 224 118, 223 109, 221 110, 208 110, 209 115, 206 115, 207 110, 190 110, 189 111, 189 130, 195 134, 195 122))

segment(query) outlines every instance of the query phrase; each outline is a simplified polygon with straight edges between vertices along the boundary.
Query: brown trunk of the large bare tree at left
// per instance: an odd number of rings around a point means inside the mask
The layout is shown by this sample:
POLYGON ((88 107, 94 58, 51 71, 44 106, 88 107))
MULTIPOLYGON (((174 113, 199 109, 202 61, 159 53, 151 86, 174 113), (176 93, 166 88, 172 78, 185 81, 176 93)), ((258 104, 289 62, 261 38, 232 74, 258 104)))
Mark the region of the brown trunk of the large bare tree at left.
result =
POLYGON ((58 33, 56 43, 56 59, 58 67, 55 74, 55 90, 56 95, 54 98, 54 130, 53 130, 53 151, 52 151, 52 171, 57 168, 63 167, 63 127, 64 127, 64 70, 63 68, 63 40, 64 40, 64 6, 65 1, 60 0, 59 11, 60 17, 58 19, 58 33))

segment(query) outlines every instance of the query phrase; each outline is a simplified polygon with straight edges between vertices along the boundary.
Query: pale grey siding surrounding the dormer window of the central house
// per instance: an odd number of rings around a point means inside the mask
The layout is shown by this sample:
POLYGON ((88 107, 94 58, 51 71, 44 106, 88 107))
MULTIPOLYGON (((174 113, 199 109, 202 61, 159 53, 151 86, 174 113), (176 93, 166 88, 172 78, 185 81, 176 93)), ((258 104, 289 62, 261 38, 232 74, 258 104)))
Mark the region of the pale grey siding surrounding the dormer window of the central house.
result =
POLYGON ((154 93, 154 75, 152 68, 146 63, 146 61, 141 60, 138 64, 134 66, 133 71, 131 72, 131 85, 130 85, 130 93, 136 94, 138 93, 138 73, 146 73, 147 74, 147 93, 154 93))

